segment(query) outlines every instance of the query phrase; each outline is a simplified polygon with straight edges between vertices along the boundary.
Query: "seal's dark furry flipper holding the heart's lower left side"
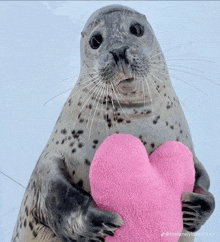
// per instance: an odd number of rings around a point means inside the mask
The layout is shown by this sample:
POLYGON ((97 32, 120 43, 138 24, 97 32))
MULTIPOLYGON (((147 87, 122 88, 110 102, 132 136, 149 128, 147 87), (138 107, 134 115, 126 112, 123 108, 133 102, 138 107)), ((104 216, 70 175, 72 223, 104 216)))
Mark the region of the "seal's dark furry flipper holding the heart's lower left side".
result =
POLYGON ((113 232, 122 225, 121 217, 98 210, 89 193, 68 182, 63 171, 56 174, 60 176, 49 179, 45 196, 46 225, 56 236, 63 241, 82 242, 88 239, 104 241, 106 235, 113 236, 113 232))

